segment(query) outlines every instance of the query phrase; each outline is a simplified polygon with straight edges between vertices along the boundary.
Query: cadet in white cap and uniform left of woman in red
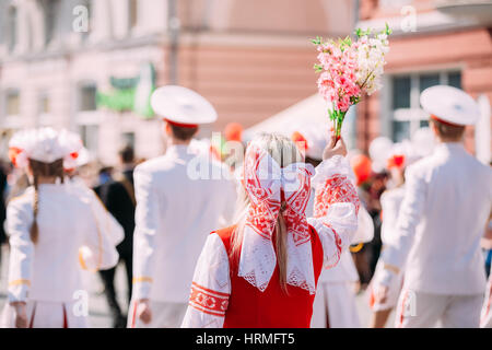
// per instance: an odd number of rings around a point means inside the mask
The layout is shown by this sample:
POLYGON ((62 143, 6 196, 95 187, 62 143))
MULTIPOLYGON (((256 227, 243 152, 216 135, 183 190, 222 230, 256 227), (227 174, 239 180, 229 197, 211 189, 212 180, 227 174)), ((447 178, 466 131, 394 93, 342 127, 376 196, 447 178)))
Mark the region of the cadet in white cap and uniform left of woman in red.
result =
POLYGON ((134 170, 133 293, 128 327, 178 327, 195 265, 208 234, 234 213, 229 170, 190 148, 199 125, 216 120, 213 106, 175 85, 157 89, 152 107, 164 118, 165 155, 134 170))

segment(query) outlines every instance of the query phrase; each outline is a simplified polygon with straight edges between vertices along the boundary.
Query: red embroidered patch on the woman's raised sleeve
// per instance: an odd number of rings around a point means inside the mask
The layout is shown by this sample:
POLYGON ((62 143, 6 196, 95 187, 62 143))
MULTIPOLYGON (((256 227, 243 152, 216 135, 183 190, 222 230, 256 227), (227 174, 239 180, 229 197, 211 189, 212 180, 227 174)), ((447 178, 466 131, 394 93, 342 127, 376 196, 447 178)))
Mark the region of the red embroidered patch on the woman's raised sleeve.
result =
POLYGON ((355 206, 359 212, 361 202, 352 183, 343 175, 335 175, 326 180, 325 186, 319 187, 315 194, 314 215, 325 217, 332 203, 349 202, 355 206))

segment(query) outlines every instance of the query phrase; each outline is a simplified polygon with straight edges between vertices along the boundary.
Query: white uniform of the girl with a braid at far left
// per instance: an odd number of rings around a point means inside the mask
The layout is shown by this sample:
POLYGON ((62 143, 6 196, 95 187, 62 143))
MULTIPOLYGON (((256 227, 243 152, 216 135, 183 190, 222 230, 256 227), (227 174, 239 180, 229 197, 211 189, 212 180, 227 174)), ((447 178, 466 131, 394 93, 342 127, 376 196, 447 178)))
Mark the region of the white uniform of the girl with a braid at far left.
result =
MULTIPOLYGON (((82 284, 81 267, 114 267, 118 253, 109 236, 122 232, 107 234, 91 206, 81 199, 80 190, 70 184, 39 185, 38 195, 36 244, 30 237, 34 188, 28 187, 8 206, 9 302, 27 303, 30 327, 87 327, 89 295, 82 284)), ((14 308, 7 304, 1 325, 13 327, 14 319, 14 308)))

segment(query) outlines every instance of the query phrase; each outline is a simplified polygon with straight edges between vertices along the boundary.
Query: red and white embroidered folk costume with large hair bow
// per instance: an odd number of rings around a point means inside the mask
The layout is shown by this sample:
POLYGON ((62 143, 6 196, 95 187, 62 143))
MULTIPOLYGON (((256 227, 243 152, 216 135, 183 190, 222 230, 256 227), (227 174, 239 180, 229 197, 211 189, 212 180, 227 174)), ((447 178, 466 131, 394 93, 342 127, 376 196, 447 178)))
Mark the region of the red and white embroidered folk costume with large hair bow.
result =
POLYGON ((294 163, 280 168, 266 151, 249 144, 243 185, 250 205, 239 257, 231 257, 231 237, 242 224, 209 235, 183 327, 309 327, 321 267, 337 265, 350 245, 360 206, 344 159, 333 156, 317 170, 316 207, 326 215, 307 219, 313 166, 294 163), (280 287, 273 243, 282 199, 288 294, 280 287))

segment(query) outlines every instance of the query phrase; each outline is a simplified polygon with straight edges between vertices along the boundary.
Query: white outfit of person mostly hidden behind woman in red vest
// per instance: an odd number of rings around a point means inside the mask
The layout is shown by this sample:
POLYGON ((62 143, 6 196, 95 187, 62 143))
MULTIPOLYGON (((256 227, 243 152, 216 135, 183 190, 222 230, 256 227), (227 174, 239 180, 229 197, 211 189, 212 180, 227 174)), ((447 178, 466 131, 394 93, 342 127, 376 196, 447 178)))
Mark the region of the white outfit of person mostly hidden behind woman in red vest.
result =
MULTIPOLYGON (((308 208, 313 208, 311 199, 308 208)), ((312 215, 312 210, 306 210, 306 215, 312 215)), ((358 231, 351 243, 371 242, 374 237, 374 223, 368 212, 362 206, 359 210, 358 224, 358 231)), ((358 281, 359 273, 352 254, 347 249, 341 254, 337 266, 330 269, 323 269, 319 276, 313 304, 311 327, 361 327, 354 292, 354 283, 358 281)))

